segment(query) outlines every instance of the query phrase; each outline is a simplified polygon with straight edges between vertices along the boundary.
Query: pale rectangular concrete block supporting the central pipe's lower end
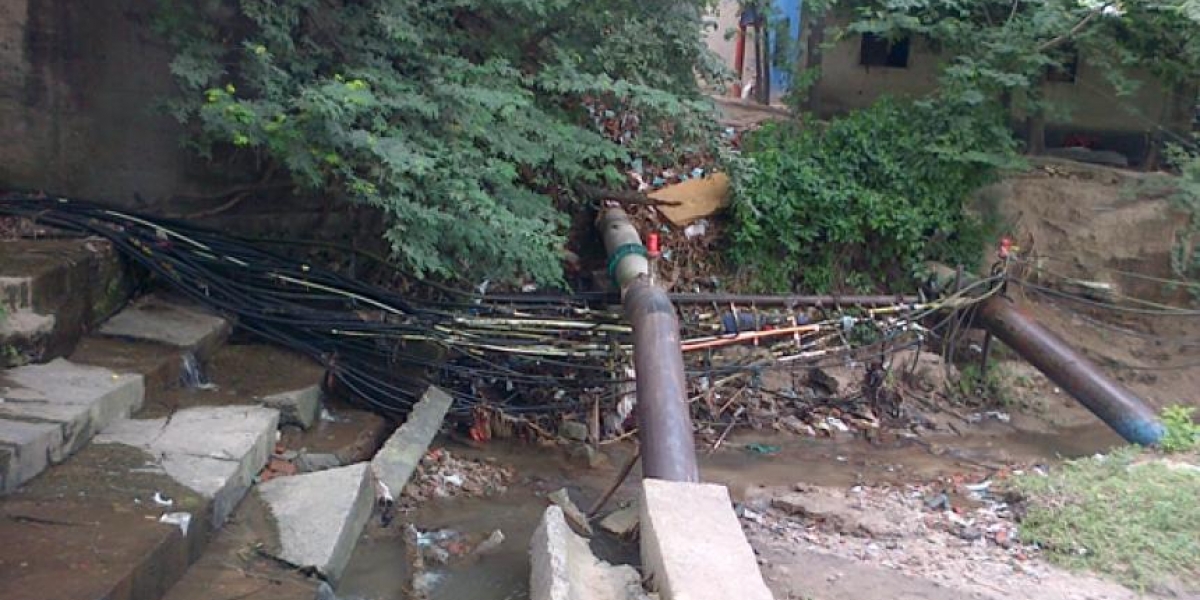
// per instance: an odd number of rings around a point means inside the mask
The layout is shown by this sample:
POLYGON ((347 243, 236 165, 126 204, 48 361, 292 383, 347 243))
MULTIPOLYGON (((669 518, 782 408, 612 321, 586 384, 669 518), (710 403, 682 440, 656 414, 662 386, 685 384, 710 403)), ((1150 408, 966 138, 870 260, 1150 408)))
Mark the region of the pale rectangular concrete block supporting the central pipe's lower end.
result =
POLYGON ((664 600, 773 600, 725 486, 646 479, 642 565, 664 600))

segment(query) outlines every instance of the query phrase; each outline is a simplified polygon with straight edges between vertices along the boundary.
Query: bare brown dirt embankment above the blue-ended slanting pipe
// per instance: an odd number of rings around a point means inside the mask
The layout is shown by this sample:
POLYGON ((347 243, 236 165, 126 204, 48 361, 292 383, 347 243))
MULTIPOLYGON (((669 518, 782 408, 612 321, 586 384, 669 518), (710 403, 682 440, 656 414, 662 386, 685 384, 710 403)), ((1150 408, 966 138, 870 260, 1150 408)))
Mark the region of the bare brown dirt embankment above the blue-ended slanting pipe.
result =
POLYGON ((1195 290, 1170 283, 1172 254, 1195 240, 1163 181, 1039 160, 979 197, 1016 241, 1014 270, 1031 286, 1010 293, 1034 318, 1156 408, 1200 406, 1195 290))

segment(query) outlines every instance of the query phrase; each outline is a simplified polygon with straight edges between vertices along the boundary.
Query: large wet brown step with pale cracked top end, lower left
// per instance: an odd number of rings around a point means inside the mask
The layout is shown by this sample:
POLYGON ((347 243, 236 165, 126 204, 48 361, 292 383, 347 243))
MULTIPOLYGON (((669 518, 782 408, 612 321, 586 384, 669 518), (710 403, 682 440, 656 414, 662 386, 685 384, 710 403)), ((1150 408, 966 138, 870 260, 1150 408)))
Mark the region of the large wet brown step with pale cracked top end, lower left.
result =
POLYGON ((108 427, 0 499, 0 598, 160 599, 245 496, 277 422, 198 407, 108 427))

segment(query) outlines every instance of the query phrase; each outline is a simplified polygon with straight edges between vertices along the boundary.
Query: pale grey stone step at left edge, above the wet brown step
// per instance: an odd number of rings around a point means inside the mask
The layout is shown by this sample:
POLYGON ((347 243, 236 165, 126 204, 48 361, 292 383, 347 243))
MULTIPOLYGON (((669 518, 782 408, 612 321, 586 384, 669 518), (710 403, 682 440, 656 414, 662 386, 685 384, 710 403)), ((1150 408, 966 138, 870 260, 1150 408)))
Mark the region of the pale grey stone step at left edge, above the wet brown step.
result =
POLYGON ((0 372, 0 492, 62 462, 142 407, 142 376, 56 359, 0 372))

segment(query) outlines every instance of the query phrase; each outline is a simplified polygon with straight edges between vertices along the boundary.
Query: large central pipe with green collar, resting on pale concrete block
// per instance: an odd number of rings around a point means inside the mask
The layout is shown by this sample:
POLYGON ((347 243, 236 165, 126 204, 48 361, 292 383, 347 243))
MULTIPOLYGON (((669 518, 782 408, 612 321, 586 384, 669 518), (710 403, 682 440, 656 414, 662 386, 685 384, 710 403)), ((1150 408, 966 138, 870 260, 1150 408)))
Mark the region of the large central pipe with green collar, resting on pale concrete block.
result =
POLYGON ((599 226, 608 251, 608 274, 620 286, 625 318, 634 328, 642 473, 698 481, 679 318, 666 290, 652 281, 646 247, 625 211, 606 209, 599 226))

